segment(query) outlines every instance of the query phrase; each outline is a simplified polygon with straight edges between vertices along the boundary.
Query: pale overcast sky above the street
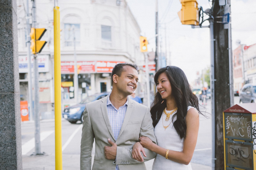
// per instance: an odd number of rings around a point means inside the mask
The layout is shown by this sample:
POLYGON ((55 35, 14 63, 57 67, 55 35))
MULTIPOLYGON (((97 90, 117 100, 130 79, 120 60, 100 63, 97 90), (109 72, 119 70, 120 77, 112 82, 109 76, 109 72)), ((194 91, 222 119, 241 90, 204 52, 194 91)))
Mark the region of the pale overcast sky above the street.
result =
MULTIPOLYGON (((141 35, 148 39, 148 51, 155 51, 156 0, 126 1, 140 26, 141 35)), ((208 0, 197 0, 197 3, 203 10, 211 8, 208 0)), ((231 0, 233 50, 238 40, 245 45, 256 43, 255 7, 256 0, 231 0)), ((180 9, 180 0, 158 0, 159 52, 167 52, 170 64, 180 67, 192 82, 198 77, 197 72, 201 74, 203 69, 210 67, 210 29, 182 25, 177 14, 180 9)))

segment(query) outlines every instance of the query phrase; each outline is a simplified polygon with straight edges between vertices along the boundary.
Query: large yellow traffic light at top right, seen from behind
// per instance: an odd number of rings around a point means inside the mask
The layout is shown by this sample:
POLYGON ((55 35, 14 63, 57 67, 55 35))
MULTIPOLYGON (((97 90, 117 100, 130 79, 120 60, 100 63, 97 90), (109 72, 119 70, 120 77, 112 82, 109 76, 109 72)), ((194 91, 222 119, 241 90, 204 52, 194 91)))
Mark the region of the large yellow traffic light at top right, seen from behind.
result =
POLYGON ((182 24, 185 25, 199 25, 199 13, 196 0, 180 0, 182 5, 178 16, 182 24))

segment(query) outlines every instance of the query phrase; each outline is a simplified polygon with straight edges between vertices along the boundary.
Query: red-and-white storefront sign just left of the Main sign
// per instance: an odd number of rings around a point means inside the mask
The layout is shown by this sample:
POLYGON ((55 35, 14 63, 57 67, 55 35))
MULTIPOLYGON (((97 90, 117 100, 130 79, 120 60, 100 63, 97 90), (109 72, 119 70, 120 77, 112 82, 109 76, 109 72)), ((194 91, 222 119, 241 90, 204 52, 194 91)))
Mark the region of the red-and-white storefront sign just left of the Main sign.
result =
MULTIPOLYGON (((61 74, 74 73, 74 61, 61 62, 61 74)), ((95 73, 95 61, 78 61, 77 72, 80 73, 95 73)))

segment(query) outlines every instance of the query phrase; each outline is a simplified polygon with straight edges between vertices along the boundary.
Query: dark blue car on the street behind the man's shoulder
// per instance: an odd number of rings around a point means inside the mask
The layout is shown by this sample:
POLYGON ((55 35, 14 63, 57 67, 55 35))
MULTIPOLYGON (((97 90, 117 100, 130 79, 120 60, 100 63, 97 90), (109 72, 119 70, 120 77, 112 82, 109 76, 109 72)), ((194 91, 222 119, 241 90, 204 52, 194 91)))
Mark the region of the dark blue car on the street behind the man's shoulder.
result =
POLYGON ((80 120, 82 123, 85 105, 92 101, 99 100, 105 96, 108 96, 109 93, 110 92, 102 92, 86 97, 83 101, 81 101, 81 103, 65 108, 62 113, 62 117, 67 119, 70 123, 76 123, 78 120, 80 120))

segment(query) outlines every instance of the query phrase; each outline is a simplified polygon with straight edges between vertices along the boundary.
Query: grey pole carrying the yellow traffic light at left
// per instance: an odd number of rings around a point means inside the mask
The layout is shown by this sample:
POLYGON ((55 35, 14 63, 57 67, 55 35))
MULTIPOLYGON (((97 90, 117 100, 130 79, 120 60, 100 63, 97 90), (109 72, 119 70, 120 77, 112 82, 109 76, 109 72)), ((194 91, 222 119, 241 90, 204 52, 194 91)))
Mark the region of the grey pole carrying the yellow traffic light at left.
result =
MULTIPOLYGON (((32 0, 32 27, 36 28, 36 7, 35 0, 32 0)), ((34 54, 34 89, 35 89, 35 102, 34 102, 34 115, 35 115, 35 153, 34 155, 43 155, 41 153, 41 142, 40 142, 40 117, 39 117, 39 85, 38 85, 38 59, 37 54, 34 54)))

